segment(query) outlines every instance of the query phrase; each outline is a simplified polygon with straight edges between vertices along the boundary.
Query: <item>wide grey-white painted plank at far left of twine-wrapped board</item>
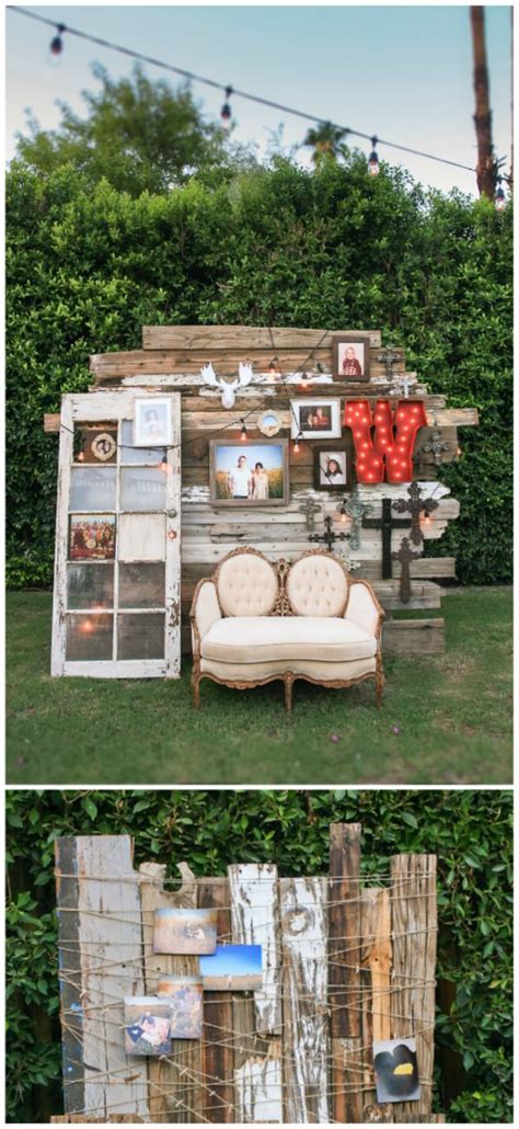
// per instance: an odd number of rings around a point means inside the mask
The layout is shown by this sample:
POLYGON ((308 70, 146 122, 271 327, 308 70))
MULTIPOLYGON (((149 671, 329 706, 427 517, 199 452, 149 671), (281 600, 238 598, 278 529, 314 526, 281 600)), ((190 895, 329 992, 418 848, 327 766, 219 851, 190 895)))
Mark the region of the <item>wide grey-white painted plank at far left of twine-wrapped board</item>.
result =
POLYGON ((139 875, 130 835, 56 839, 67 1114, 148 1120, 148 1065, 124 1050, 124 997, 142 996, 139 875))

